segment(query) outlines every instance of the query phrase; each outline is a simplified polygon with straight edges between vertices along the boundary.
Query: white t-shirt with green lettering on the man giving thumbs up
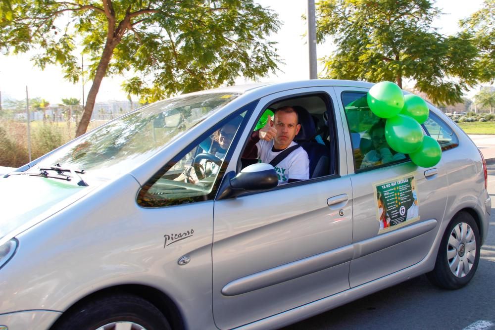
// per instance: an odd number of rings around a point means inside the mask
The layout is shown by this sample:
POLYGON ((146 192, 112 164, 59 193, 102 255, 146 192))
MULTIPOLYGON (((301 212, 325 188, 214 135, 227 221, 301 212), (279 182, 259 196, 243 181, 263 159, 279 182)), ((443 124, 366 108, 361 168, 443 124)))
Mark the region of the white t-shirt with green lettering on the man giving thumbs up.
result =
MULTIPOLYGON (((256 143, 258 148, 258 163, 270 163, 279 153, 273 152, 273 140, 259 140, 256 143)), ((295 145, 292 141, 289 147, 295 145)), ((308 154, 302 147, 298 147, 287 155, 280 163, 275 166, 279 178, 279 185, 289 182, 289 179, 307 180, 309 179, 309 158, 308 154)))

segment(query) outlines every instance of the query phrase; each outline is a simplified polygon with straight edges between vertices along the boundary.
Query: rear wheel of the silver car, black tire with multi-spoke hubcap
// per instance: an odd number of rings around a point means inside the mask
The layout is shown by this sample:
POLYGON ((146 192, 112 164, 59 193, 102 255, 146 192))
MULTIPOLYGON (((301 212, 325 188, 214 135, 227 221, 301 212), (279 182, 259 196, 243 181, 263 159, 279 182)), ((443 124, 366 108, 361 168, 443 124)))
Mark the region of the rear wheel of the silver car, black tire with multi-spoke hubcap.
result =
POLYGON ((428 279, 445 289, 463 287, 476 273, 480 249, 478 225, 469 213, 458 213, 442 237, 435 268, 426 274, 428 279))

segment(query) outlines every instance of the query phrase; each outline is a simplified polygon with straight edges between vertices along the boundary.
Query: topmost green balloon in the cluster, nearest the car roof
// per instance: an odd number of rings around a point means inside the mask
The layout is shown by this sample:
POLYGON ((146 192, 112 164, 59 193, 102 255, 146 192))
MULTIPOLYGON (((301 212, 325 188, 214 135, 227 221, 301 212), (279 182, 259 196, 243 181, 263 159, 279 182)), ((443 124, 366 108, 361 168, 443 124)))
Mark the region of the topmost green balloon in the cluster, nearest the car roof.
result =
POLYGON ((368 106, 380 118, 395 117, 404 107, 404 94, 396 84, 382 81, 367 94, 368 106))

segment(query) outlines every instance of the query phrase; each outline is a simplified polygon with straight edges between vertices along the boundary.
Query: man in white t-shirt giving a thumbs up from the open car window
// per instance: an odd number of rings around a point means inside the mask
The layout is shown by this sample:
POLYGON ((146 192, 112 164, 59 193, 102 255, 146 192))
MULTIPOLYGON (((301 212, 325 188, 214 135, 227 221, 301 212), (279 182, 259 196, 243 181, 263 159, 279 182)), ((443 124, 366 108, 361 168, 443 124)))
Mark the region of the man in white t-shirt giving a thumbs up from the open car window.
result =
MULTIPOLYGON (((274 112, 273 121, 268 116, 266 125, 251 134, 244 154, 256 152, 258 163, 270 163, 282 151, 297 145, 293 140, 300 128, 294 108, 278 108, 274 112)), ((277 164, 272 165, 277 172, 279 185, 309 179, 309 158, 302 147, 293 149, 277 164)))

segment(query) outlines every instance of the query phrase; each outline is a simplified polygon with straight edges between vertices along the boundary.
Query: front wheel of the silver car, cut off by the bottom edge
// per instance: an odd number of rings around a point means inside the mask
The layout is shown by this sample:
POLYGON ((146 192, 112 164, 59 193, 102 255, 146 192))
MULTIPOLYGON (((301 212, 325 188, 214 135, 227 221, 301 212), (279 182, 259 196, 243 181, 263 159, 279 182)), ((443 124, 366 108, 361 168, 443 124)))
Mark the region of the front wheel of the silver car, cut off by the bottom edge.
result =
POLYGON ((53 330, 171 330, 155 305, 139 296, 117 294, 92 300, 63 315, 53 330))

